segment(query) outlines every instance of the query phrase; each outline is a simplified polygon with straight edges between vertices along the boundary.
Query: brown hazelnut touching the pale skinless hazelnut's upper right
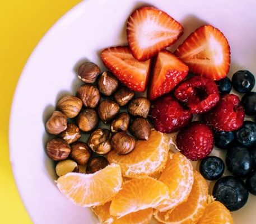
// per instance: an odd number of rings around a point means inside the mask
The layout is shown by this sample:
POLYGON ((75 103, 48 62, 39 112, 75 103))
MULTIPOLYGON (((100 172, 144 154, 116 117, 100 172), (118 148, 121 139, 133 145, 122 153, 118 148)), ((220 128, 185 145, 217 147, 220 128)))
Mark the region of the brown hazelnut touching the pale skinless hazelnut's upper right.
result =
POLYGON ((75 160, 78 165, 85 166, 90 157, 90 148, 86 143, 75 142, 71 144, 71 158, 75 160))

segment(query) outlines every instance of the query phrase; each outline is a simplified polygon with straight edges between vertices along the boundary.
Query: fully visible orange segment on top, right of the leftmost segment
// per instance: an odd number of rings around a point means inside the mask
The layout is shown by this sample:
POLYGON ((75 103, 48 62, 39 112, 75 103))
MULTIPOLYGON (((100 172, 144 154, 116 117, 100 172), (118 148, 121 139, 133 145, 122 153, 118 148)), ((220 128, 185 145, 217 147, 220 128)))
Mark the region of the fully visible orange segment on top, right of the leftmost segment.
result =
POLYGON ((142 209, 155 208, 169 198, 168 187, 159 180, 143 176, 123 184, 111 202, 110 214, 122 217, 142 209))

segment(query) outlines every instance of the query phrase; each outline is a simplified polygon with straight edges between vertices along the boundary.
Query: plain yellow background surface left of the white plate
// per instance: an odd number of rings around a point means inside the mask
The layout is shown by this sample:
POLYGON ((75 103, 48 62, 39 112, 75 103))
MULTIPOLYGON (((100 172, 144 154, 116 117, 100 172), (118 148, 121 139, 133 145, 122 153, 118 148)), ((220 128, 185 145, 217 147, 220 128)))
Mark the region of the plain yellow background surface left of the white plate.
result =
POLYGON ((0 0, 0 223, 32 223, 8 152, 12 97, 22 68, 46 31, 80 0, 0 0))

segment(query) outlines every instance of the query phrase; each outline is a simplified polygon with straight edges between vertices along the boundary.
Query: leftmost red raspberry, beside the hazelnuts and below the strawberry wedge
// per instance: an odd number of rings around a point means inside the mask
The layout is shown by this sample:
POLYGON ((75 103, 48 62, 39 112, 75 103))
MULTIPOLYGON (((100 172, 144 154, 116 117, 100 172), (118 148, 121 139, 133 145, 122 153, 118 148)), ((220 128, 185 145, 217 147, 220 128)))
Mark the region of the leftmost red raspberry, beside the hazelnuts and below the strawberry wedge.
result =
POLYGON ((151 119, 159 132, 171 133, 190 123, 192 115, 171 96, 156 100, 151 109, 151 119))

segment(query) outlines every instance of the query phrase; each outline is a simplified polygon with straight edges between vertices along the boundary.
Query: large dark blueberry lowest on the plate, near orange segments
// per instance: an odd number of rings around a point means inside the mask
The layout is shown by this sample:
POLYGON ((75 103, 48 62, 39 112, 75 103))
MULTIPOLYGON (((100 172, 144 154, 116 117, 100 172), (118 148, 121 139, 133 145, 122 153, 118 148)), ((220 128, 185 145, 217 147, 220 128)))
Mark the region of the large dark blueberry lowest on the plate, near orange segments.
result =
POLYGON ((231 212, 243 207, 249 196, 244 182, 234 176, 225 176, 217 180, 212 194, 231 212))

